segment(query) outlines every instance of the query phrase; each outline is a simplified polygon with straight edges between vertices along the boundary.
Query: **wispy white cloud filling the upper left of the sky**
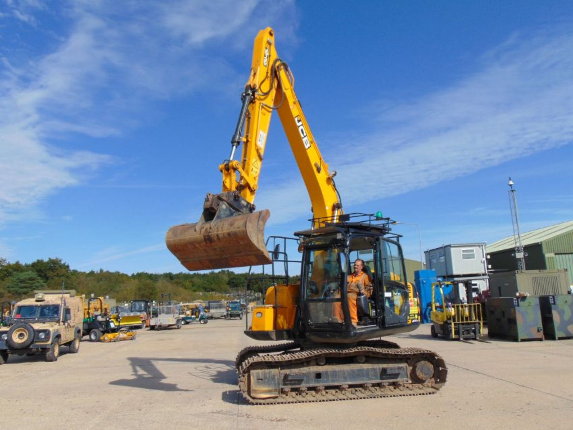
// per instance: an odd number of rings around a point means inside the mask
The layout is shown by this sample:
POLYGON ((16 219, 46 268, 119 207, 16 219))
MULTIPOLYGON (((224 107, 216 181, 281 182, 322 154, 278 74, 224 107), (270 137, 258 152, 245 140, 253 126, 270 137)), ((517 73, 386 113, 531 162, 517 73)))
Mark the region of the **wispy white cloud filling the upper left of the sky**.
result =
MULTIPOLYGON (((37 213, 50 194, 117 161, 64 145, 121 135, 153 115, 144 107, 154 100, 208 87, 231 67, 222 53, 207 55, 206 44, 250 44, 246 28, 295 9, 289 0, 260 3, 80 0, 58 3, 44 19, 44 3, 6 0, 2 24, 12 34, 37 31, 46 44, 32 52, 14 37, 19 49, 0 50, 0 220, 37 213)), ((286 33, 295 25, 285 20, 286 33)))

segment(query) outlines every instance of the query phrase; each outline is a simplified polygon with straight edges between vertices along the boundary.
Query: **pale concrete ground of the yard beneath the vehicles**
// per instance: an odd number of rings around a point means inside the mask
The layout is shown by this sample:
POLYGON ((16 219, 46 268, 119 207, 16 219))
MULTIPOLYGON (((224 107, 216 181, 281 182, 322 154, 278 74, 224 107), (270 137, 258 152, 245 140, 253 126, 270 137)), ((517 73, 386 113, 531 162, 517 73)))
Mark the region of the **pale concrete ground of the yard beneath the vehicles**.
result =
POLYGON ((573 340, 470 345, 434 340, 424 325, 388 339, 444 357, 448 381, 435 395, 253 406, 240 399, 233 367, 257 343, 244 327, 215 320, 115 344, 84 338, 78 354, 62 348, 54 363, 11 356, 0 366, 2 427, 573 428, 573 340))

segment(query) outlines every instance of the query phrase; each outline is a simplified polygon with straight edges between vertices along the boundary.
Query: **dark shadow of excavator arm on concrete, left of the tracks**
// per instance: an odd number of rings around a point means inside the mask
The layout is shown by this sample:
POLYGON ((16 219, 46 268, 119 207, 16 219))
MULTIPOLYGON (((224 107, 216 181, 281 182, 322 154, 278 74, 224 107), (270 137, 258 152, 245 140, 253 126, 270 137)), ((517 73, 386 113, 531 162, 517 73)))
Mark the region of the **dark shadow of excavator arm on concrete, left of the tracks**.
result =
MULTIPOLYGON (((193 391, 179 388, 176 384, 163 382, 167 377, 160 372, 154 361, 158 362, 185 362, 197 363, 191 368, 190 375, 221 384, 237 385, 237 373, 234 362, 230 360, 209 360, 208 358, 143 358, 129 357, 129 364, 133 370, 134 378, 120 379, 109 382, 110 385, 129 386, 159 391, 193 391)), ((236 403, 233 402, 233 403, 236 403)))

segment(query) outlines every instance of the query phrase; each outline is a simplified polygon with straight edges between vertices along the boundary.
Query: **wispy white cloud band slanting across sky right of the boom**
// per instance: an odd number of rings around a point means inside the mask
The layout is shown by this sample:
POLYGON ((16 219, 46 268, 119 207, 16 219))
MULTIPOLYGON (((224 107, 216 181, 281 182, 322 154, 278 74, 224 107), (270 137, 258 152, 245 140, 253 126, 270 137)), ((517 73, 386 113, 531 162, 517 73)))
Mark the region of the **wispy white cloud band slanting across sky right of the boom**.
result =
MULTIPOLYGON (((378 200, 570 144, 570 28, 512 35, 485 53, 473 74, 418 100, 398 105, 372 100, 369 115, 373 106, 383 106, 373 124, 378 131, 340 136, 338 145, 321 148, 339 173, 343 202, 364 201, 366 196, 353 192, 356 187, 378 200), (362 159, 348 160, 348 141, 362 159)), ((309 214, 298 179, 270 191, 261 187, 257 199, 258 207, 270 208, 274 223, 309 214)))

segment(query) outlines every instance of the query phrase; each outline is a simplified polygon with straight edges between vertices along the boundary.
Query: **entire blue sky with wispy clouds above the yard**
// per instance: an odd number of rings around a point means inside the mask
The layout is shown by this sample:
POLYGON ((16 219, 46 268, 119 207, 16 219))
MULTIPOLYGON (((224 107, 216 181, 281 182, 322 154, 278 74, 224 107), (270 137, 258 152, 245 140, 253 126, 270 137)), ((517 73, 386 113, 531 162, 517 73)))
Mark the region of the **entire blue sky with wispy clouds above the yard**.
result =
MULTIPOLYGON (((494 242, 511 176, 524 231, 573 219, 571 2, 2 0, 0 256, 184 270, 164 234, 221 189, 266 26, 347 212, 494 242)), ((278 118, 256 204, 267 234, 308 226, 278 118)))

